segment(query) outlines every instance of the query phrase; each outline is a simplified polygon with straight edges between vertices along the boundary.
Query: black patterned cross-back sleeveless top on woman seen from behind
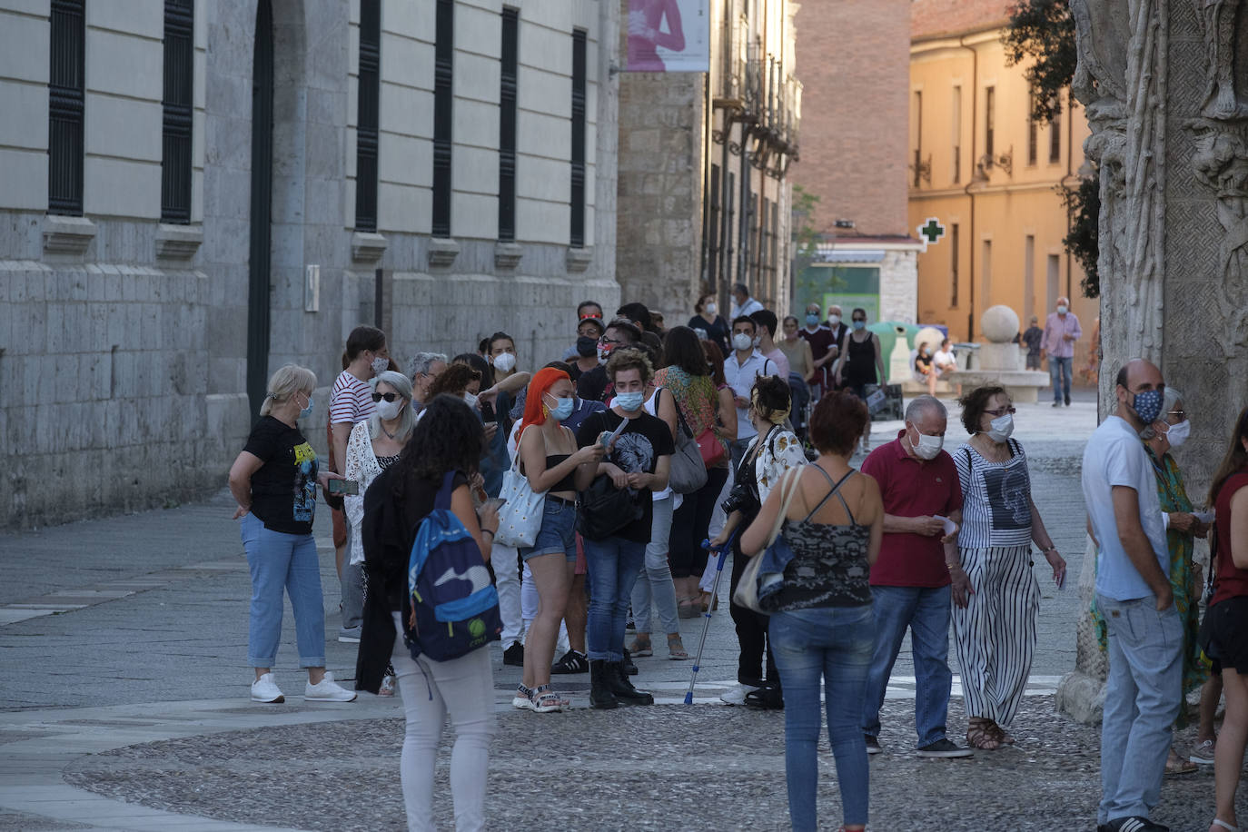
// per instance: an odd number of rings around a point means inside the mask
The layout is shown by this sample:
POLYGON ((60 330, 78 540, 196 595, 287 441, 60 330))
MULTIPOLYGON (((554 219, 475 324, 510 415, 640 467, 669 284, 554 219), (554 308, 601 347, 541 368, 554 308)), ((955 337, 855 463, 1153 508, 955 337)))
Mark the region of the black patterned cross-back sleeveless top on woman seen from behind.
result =
MULTIPOLYGON (((832 481, 822 468, 812 468, 832 481)), ((851 468, 805 519, 784 521, 780 534, 792 549, 792 560, 785 566, 784 586, 768 599, 769 612, 871 602, 871 566, 866 560, 871 526, 854 520, 854 513, 840 494, 841 485, 856 473, 851 468), (850 521, 844 525, 811 521, 810 518, 834 496, 841 501, 850 521)))

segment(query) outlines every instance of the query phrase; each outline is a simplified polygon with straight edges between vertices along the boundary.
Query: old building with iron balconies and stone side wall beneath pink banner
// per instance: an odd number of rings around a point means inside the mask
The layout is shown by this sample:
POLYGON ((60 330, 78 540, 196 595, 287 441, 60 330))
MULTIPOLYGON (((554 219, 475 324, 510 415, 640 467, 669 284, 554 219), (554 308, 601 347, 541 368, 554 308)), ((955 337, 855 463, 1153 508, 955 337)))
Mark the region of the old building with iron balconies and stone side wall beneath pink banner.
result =
MULTIPOLYGON (((618 1, 626 14, 629 0, 618 1)), ((708 292, 726 313, 734 283, 774 309, 790 297, 796 4, 706 6, 709 74, 620 75, 615 268, 625 299, 669 324, 688 321, 708 292)))

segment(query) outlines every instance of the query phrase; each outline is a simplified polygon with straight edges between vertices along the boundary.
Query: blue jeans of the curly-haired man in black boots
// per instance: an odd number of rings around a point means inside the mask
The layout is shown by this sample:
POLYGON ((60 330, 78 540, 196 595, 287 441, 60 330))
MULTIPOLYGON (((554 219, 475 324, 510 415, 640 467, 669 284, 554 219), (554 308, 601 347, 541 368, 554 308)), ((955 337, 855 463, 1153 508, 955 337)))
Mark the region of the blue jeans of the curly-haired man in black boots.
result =
POLYGON ((585 647, 590 660, 624 660, 624 625, 633 584, 645 563, 645 544, 623 538, 585 540, 589 568, 589 624, 585 647))

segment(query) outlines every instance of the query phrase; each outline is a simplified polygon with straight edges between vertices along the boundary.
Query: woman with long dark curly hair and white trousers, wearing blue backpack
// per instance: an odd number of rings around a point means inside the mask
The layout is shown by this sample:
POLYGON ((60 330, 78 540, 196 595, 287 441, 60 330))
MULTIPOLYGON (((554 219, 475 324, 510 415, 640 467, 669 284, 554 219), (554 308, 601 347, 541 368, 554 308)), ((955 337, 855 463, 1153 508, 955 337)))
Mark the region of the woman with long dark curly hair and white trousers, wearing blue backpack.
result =
POLYGON ((494 733, 489 650, 473 650, 448 661, 424 655, 412 659, 403 642, 401 614, 416 530, 433 510, 451 472, 451 511, 489 561, 498 514, 488 505, 474 510, 468 485, 483 448, 480 422, 468 405, 453 395, 439 395, 426 405, 398 462, 382 472, 364 495, 364 569, 368 585, 379 591, 369 593, 366 600, 356 679, 359 689, 376 694, 387 661, 394 666, 407 713, 399 772, 407 822, 413 830, 427 828, 433 816, 433 772, 448 713, 456 730, 451 757, 456 821, 462 828, 484 825, 488 751, 494 733))

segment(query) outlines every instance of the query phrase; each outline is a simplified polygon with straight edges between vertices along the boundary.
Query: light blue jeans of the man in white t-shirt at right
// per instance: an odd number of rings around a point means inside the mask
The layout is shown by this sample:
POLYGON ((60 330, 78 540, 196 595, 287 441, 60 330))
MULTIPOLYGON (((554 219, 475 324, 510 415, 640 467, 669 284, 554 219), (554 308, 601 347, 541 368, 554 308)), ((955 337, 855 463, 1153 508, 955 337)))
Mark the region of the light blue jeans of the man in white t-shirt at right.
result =
POLYGON ((1183 622, 1157 597, 1096 596, 1109 635, 1109 679, 1101 722, 1097 823, 1148 817, 1161 796, 1171 725, 1183 702, 1183 622))

